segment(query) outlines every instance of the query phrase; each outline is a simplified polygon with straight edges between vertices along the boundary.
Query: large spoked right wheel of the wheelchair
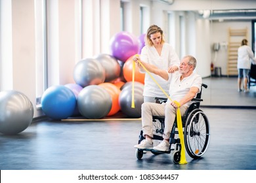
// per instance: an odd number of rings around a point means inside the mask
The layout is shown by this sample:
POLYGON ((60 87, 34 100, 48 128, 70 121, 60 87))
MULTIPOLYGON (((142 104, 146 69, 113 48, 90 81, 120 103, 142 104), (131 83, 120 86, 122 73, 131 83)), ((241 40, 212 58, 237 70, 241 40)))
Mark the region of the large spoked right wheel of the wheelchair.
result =
POLYGON ((203 156, 209 144, 210 131, 207 116, 199 108, 188 114, 184 128, 186 152, 191 158, 203 156))

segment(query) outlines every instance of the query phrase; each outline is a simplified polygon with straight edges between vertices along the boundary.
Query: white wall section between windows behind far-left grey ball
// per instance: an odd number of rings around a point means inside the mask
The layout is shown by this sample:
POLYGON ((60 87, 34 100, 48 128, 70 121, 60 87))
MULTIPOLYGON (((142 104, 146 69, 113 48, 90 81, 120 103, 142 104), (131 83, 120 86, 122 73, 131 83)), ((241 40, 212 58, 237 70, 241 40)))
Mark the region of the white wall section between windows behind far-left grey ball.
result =
POLYGON ((27 95, 35 107, 34 1, 12 1, 12 89, 27 95))

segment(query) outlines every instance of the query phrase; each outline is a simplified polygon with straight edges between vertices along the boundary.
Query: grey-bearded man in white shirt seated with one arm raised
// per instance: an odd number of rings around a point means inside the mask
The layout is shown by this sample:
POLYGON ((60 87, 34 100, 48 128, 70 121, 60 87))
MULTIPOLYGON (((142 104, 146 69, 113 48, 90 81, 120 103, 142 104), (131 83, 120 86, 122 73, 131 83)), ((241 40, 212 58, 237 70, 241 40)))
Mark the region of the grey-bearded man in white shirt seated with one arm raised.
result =
MULTIPOLYGON (((138 58, 139 59, 139 58, 138 58)), ((135 60, 137 61, 137 60, 135 60)), ((140 144, 135 145, 139 149, 154 149, 158 151, 167 151, 169 149, 169 138, 171 129, 175 122, 176 110, 180 107, 181 116, 184 115, 192 103, 192 99, 200 92, 202 86, 202 77, 194 73, 196 68, 196 59, 193 56, 185 56, 179 66, 179 72, 168 73, 164 69, 159 69, 148 63, 141 63, 150 73, 159 75, 165 80, 170 80, 169 97, 166 103, 142 103, 141 121, 142 131, 145 139, 140 144), (177 101, 178 103, 175 103, 177 101), (178 106, 180 105, 180 106, 178 106), (163 141, 157 146, 153 145, 153 119, 152 116, 165 116, 165 127, 163 131, 163 141)))

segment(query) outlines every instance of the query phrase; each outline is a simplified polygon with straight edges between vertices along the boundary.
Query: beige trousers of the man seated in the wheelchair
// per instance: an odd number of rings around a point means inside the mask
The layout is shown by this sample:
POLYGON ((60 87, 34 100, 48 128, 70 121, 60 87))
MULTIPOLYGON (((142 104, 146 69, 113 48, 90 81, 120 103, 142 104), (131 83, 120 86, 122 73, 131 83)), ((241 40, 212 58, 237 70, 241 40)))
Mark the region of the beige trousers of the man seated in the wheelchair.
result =
MULTIPOLYGON (((181 116, 184 115, 188 105, 182 105, 180 107, 181 116)), ((170 103, 143 103, 141 107, 142 118, 142 131, 143 136, 148 135, 153 137, 153 118, 152 116, 164 116, 165 128, 163 130, 163 139, 169 139, 171 129, 175 122, 177 108, 173 107, 170 103)))

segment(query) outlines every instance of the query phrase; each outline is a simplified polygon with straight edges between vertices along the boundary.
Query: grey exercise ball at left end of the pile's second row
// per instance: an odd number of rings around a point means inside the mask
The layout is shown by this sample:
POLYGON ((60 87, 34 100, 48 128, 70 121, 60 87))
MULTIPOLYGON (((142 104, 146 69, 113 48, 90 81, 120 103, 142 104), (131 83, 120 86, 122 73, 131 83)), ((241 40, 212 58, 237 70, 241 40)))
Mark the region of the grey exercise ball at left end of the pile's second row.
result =
POLYGON ((104 82, 105 70, 99 61, 94 58, 87 58, 75 64, 73 76, 75 83, 84 88, 104 82))

